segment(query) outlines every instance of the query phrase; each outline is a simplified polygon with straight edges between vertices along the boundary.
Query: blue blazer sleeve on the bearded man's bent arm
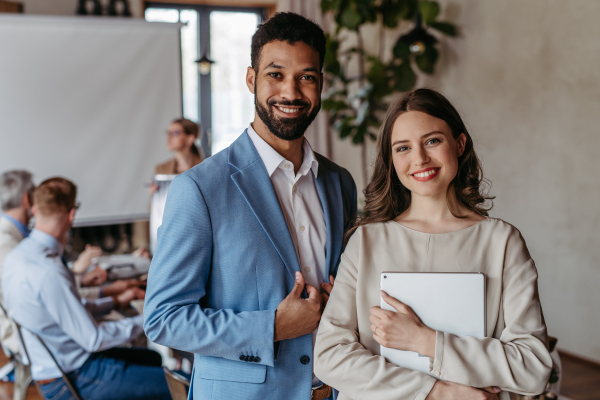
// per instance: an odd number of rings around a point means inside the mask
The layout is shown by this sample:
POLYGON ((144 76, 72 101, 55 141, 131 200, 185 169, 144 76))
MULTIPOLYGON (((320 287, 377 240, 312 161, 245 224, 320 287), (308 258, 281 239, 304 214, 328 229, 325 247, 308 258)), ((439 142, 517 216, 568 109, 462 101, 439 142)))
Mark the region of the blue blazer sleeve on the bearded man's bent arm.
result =
MULTIPOLYGON (((232 241, 233 245, 233 241, 232 241)), ((153 342, 204 356, 274 365, 275 310, 236 312, 200 305, 212 267, 212 225, 203 194, 187 174, 169 187, 150 266, 144 330, 153 342)))

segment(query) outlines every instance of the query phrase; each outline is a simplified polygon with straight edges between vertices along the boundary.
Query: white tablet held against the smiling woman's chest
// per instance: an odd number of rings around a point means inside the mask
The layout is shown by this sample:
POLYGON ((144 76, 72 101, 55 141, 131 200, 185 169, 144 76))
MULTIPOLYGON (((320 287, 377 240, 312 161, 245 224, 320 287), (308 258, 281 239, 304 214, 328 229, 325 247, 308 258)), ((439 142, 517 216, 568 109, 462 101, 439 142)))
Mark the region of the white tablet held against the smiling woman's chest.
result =
MULTIPOLYGON (((465 272, 383 272, 380 287, 409 305, 428 327, 457 336, 485 337, 485 275, 465 272)), ((383 298, 381 308, 395 311, 383 298)), ((381 346, 389 362, 429 372, 429 357, 381 346)))

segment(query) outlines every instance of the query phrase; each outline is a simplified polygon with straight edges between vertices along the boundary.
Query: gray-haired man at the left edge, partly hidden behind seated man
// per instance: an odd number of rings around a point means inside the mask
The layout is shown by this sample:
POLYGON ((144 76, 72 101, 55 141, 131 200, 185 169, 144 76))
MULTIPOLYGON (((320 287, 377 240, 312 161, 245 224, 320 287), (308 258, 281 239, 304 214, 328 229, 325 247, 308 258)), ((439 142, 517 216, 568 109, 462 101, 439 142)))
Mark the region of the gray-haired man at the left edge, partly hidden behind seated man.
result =
MULTIPOLYGON (((0 176, 0 272, 7 254, 29 236, 34 190, 32 175, 27 171, 8 171, 0 176)), ((19 352, 17 336, 4 313, 0 313, 0 342, 13 354, 19 352)))

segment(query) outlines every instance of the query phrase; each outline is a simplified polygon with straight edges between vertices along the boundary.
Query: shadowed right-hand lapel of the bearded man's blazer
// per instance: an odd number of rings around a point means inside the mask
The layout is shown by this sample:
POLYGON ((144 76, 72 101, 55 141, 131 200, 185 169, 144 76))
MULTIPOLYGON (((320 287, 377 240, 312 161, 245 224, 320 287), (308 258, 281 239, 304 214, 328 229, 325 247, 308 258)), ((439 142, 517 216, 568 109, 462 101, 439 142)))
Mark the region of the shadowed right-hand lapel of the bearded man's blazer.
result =
POLYGON ((319 160, 319 173, 317 174, 317 191, 323 205, 325 224, 327 225, 327 254, 326 263, 329 274, 337 272, 337 261, 342 251, 344 241, 344 210, 342 202, 342 188, 340 175, 324 166, 319 160))

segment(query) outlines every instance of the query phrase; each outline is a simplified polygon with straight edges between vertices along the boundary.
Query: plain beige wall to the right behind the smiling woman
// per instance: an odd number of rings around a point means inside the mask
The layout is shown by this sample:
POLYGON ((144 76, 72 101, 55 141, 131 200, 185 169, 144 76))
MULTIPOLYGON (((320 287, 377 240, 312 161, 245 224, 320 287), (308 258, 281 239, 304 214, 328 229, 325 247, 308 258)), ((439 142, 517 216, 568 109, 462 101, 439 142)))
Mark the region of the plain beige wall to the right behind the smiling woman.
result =
MULTIPOLYGON (((496 195, 539 271, 549 333, 600 361, 600 2, 440 0, 462 32, 434 78, 474 137, 496 195)), ((370 34, 373 40, 373 32, 370 34)), ((334 158, 357 183, 357 148, 334 158)))

